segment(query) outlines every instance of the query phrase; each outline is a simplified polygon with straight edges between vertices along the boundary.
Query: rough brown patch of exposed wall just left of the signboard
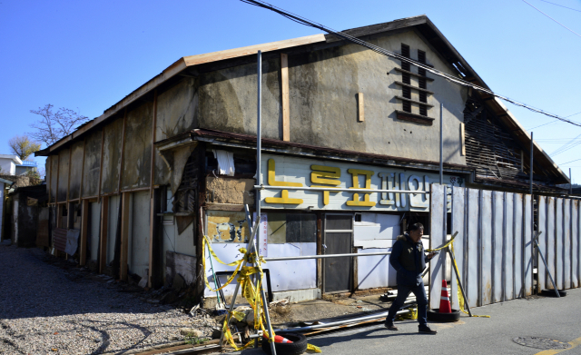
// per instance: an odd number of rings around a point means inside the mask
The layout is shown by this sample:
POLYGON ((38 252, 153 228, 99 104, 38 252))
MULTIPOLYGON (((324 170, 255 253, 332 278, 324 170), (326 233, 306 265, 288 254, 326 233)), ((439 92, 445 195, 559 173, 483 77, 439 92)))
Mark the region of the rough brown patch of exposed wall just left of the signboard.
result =
POLYGON ((206 178, 206 193, 210 202, 254 204, 254 180, 206 178))

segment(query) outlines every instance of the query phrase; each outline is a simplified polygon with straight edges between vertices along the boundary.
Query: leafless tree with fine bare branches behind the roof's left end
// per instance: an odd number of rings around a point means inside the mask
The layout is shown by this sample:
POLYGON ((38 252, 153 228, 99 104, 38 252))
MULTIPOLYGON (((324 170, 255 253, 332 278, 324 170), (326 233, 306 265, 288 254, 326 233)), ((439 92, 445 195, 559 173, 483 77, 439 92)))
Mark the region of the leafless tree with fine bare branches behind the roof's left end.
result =
POLYGON ((38 110, 30 110, 31 113, 40 115, 42 118, 30 126, 36 131, 30 134, 35 140, 52 145, 73 131, 89 118, 74 110, 61 107, 57 112, 53 111, 52 104, 39 107, 38 110))

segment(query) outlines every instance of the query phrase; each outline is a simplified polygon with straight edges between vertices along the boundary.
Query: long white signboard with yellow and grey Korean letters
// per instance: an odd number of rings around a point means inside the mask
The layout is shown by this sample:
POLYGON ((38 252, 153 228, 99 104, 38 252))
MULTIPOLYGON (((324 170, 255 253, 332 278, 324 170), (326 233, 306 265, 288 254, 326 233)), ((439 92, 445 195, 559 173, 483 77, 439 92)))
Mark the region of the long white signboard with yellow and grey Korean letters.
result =
MULTIPOLYGON (((265 186, 354 188, 369 190, 429 191, 439 181, 438 173, 339 163, 309 158, 262 154, 262 183, 265 186)), ((464 187, 459 176, 444 175, 449 186, 464 187)), ((448 189, 448 193, 451 189, 448 189)), ((315 192, 262 190, 261 207, 275 209, 428 212, 427 193, 315 192)), ((449 200, 448 200, 449 208, 449 200)))

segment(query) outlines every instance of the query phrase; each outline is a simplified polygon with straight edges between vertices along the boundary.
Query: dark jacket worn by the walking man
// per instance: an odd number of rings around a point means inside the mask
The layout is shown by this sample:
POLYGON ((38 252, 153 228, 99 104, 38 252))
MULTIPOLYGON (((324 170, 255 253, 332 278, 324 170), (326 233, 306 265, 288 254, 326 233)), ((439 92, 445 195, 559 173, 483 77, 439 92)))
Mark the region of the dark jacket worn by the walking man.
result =
POLYGON ((421 240, 413 242, 409 234, 399 235, 391 249, 389 263, 398 271, 399 285, 417 286, 426 269, 426 255, 421 240))

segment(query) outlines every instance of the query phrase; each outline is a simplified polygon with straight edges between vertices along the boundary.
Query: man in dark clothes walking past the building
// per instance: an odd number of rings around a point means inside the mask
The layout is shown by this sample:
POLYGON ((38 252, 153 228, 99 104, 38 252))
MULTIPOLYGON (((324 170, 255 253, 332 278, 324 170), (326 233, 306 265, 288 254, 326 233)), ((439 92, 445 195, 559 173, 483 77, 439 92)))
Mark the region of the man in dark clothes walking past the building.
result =
POLYGON ((421 223, 412 224, 409 232, 399 235, 393 244, 389 263, 398 271, 398 297, 389 307, 388 318, 385 320, 385 327, 388 330, 398 330, 393 325, 396 312, 399 311, 403 302, 409 296, 409 292, 414 292, 418 301, 418 321, 419 332, 426 334, 436 334, 436 330, 428 327, 428 297, 421 273, 426 269, 426 262, 430 261, 437 252, 430 252, 426 255, 424 246, 421 243, 421 236, 424 234, 424 226, 421 223))

